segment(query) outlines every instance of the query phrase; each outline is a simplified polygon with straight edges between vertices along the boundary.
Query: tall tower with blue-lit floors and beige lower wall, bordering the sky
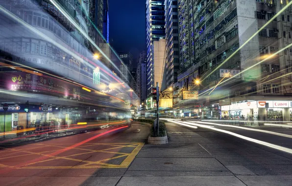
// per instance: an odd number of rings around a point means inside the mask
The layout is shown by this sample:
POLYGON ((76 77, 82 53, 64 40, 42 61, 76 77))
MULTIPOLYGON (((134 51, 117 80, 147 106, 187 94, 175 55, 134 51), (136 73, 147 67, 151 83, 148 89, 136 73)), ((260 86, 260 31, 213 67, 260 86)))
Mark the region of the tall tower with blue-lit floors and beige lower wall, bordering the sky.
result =
POLYGON ((161 76, 164 66, 160 63, 165 62, 164 9, 164 0, 146 0, 147 95, 151 93, 152 87, 156 86, 156 82, 162 82, 161 76), (158 69, 155 66, 161 68, 158 69), (157 69, 157 71, 154 71, 154 69, 157 69))

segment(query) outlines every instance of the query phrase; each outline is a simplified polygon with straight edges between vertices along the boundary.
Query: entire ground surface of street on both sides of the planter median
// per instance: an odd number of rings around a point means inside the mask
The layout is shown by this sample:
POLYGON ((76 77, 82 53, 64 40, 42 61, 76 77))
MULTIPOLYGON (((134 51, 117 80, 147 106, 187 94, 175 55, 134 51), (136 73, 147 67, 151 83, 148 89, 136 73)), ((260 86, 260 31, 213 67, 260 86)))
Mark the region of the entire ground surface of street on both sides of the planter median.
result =
MULTIPOLYGON (((149 127, 133 124, 98 138, 109 129, 3 149, 1 185, 292 186, 291 154, 210 129, 170 122, 167 129, 165 145, 144 144, 149 127)), ((267 135, 262 140, 278 145, 285 140, 267 135)))

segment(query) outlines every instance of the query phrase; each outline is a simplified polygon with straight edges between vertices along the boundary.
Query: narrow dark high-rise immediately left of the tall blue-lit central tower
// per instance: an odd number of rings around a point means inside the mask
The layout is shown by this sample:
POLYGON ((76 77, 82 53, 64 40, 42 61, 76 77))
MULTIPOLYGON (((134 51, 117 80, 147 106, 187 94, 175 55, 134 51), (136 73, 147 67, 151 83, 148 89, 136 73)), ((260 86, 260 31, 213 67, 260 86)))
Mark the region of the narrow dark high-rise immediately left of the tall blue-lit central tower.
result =
POLYGON ((139 55, 138 65, 137 65, 137 91, 136 94, 140 97, 140 101, 146 100, 147 93, 147 82, 146 82, 146 51, 143 51, 139 55))

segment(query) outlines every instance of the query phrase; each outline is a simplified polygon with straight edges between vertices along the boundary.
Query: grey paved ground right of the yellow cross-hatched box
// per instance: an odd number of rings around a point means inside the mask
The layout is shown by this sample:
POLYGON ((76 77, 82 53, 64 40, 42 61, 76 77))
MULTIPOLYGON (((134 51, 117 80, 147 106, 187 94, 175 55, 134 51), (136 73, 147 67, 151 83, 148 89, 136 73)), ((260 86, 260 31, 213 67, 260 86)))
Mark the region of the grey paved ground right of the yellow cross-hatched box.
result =
POLYGON ((116 186, 292 186, 292 157, 208 130, 167 130, 169 144, 146 144, 116 186))

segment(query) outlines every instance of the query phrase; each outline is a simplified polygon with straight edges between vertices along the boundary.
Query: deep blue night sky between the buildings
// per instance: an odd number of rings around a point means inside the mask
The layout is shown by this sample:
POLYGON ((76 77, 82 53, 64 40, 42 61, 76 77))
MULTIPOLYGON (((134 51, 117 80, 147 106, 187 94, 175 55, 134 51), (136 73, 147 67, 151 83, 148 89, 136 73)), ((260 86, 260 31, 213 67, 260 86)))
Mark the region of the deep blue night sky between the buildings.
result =
POLYGON ((146 48, 146 0, 108 0, 108 3, 110 45, 117 52, 131 52, 136 67, 139 53, 146 48))

